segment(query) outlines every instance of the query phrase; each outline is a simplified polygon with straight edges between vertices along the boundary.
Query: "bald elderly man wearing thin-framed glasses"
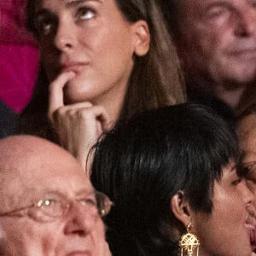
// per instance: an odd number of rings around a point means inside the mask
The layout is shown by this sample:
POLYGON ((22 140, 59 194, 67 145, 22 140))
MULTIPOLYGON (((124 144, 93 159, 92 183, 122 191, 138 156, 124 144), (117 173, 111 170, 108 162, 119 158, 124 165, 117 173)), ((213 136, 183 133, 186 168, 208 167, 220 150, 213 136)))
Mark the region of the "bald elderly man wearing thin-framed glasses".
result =
POLYGON ((0 140, 0 198, 1 255, 110 255, 101 216, 111 202, 55 144, 0 140))

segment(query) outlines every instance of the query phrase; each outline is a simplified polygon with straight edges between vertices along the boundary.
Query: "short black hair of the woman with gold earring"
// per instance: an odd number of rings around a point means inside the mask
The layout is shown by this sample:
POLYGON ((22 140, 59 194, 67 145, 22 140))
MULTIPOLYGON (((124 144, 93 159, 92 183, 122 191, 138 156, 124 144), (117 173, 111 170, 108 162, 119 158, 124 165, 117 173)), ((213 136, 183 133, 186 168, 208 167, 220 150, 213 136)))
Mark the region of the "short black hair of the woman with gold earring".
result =
POLYGON ((96 144, 91 180, 115 206, 106 218, 113 255, 177 255, 172 196, 212 212, 212 188, 230 160, 236 134, 210 108, 184 103, 124 120, 96 144))

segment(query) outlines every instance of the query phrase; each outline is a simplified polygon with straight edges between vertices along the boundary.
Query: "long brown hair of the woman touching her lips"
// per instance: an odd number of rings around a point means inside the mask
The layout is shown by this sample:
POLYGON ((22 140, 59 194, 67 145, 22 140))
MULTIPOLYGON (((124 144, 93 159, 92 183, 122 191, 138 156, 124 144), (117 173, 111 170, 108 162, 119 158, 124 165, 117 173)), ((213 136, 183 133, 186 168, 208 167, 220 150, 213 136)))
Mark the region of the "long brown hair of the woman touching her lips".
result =
MULTIPOLYGON (((26 14, 27 27, 37 37, 34 26, 35 2, 34 0, 27 1, 26 14)), ((146 20, 150 32, 148 54, 142 57, 134 56, 135 66, 131 73, 120 118, 131 117, 134 113, 145 109, 184 102, 183 76, 176 49, 166 27, 165 18, 158 6, 158 1, 116 0, 116 3, 126 20, 130 22, 146 20)), ((47 122, 42 123, 37 117, 34 117, 38 115, 39 111, 40 116, 47 119, 49 83, 43 76, 44 70, 41 68, 41 73, 38 76, 38 88, 32 96, 32 102, 20 117, 20 132, 46 135, 51 130, 47 122), (32 125, 28 125, 32 122, 32 125)), ((49 134, 48 137, 52 138, 52 135, 49 134)))

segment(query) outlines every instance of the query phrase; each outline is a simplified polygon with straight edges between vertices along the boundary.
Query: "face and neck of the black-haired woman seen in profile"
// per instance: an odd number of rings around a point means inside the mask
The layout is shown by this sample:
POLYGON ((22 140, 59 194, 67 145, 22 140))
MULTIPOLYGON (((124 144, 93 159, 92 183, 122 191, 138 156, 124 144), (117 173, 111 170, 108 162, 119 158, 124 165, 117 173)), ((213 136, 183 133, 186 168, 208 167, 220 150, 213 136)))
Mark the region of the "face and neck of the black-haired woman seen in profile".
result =
POLYGON ((246 256, 252 254, 250 217, 253 194, 236 167, 223 169, 221 180, 213 184, 212 213, 193 212, 192 232, 198 236, 200 255, 246 256))

